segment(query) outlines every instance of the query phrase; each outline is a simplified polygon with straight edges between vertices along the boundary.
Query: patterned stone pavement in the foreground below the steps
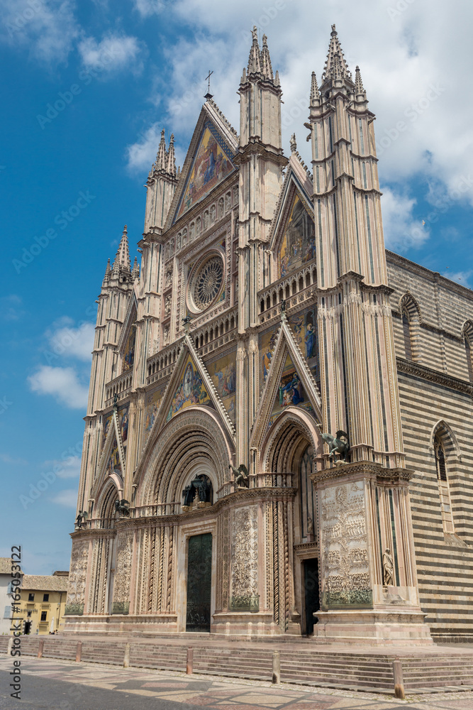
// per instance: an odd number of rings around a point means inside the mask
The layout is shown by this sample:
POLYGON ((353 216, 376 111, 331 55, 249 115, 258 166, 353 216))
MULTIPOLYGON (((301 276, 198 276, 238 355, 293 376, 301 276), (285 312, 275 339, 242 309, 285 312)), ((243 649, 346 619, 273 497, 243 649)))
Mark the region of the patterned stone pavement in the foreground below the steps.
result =
MULTIPOLYGON (((13 670, 11 659, 0 659, 1 688, 0 707, 20 707, 11 699, 7 673, 13 670), (7 704, 5 704, 7 703, 7 704)), ((406 705, 419 710, 473 710, 473 692, 441 692, 408 696, 406 701, 392 696, 367 692, 350 692, 325 688, 304 687, 282 683, 272 685, 268 682, 228 679, 208 675, 186 675, 172 671, 123 669, 91 663, 74 663, 55 659, 35 659, 22 657, 22 704, 25 707, 48 708, 117 708, 127 709, 136 706, 148 707, 148 699, 155 699, 152 706, 179 710, 208 708, 211 710, 390 710, 406 705), (50 681, 50 687, 61 683, 62 704, 50 701, 37 704, 28 693, 28 677, 31 686, 41 679, 50 681), (34 677, 34 678, 33 678, 34 677), (34 682, 33 682, 34 680, 34 682), (64 686, 62 686, 64 684, 64 686), (89 690, 88 690, 89 689, 89 690), (101 693, 101 704, 92 704, 94 691, 101 693), (64 696, 70 697, 67 701, 64 696), (90 704, 88 703, 90 696, 90 704), (75 697, 75 700, 74 700, 75 697), (33 703, 30 705, 30 703, 33 703), (169 703, 169 704, 168 704, 169 703), (180 704, 180 705, 179 705, 180 704)), ((47 686, 45 686, 47 689, 47 686)), ((46 692, 46 690, 44 690, 46 692)), ((58 692, 58 691, 57 691, 58 692)), ((59 697, 59 696, 58 696, 59 697)), ((95 698, 97 703, 99 699, 95 698)), ((151 707, 151 705, 150 705, 151 707)))

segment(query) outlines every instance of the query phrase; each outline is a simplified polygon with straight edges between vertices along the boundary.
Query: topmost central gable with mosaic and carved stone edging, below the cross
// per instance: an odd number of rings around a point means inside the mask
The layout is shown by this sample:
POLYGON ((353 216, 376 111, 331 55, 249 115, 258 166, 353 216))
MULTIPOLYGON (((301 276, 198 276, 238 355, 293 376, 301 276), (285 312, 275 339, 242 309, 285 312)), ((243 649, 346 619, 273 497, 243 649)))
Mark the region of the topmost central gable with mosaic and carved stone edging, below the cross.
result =
POLYGON ((189 144, 165 230, 237 169, 233 160, 238 140, 216 104, 204 104, 189 144))

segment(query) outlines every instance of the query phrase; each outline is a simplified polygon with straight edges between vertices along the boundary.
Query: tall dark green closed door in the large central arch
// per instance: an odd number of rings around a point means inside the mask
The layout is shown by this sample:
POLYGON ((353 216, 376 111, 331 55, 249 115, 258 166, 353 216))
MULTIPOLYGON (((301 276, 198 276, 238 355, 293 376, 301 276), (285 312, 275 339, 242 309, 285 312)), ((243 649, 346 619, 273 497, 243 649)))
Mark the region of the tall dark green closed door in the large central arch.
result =
POLYGON ((189 537, 186 631, 210 631, 212 534, 189 537))

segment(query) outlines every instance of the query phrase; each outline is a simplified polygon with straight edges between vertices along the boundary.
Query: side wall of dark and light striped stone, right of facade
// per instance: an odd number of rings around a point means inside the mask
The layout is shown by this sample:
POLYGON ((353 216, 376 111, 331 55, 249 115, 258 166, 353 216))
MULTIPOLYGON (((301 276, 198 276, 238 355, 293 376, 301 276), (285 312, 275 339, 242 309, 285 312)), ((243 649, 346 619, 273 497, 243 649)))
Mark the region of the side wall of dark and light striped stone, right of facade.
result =
POLYGON ((462 338, 473 292, 386 253, 406 466, 411 482, 421 606, 435 640, 473 641, 473 383, 462 338), (402 299, 410 303, 412 359, 406 357, 402 299), (440 422, 440 423, 439 423, 440 422), (438 427, 446 452, 454 530, 445 532, 433 451, 438 427))

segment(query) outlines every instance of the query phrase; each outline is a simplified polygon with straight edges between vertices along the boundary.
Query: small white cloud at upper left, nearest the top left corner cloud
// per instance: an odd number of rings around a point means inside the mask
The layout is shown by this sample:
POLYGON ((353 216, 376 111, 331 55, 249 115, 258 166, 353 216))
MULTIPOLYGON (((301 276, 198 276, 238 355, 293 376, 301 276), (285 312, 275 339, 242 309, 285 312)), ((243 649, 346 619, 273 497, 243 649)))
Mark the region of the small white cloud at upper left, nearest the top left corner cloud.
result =
POLYGON ((110 33, 97 42, 94 37, 86 37, 79 43, 79 54, 88 70, 113 72, 128 69, 140 72, 143 62, 140 55, 142 43, 136 37, 110 33))

